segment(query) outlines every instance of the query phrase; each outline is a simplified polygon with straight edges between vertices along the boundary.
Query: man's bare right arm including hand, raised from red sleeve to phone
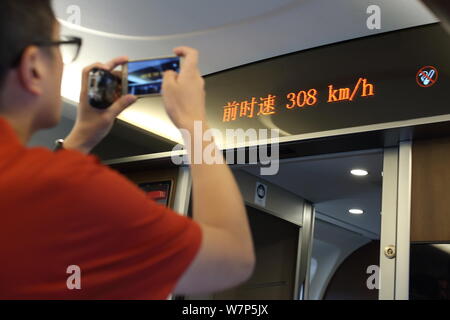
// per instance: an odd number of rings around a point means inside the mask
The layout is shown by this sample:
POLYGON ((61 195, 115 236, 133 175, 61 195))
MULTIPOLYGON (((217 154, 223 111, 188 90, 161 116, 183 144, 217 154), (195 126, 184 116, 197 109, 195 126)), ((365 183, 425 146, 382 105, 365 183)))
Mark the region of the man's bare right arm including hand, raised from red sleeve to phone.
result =
MULTIPOLYGON (((195 139, 195 121, 201 123, 204 130, 208 129, 204 80, 197 67, 198 53, 186 47, 175 49, 175 53, 184 56, 185 61, 180 74, 170 71, 165 74, 164 102, 174 124, 189 133, 185 140, 195 139)), ((186 142, 187 146, 194 146, 193 141, 186 142)), ((203 142, 202 151, 205 147, 203 142)), ((193 150, 188 153, 192 157, 193 150)), ((247 280, 255 264, 244 202, 229 167, 226 164, 192 164, 191 173, 193 218, 201 226, 203 241, 175 289, 179 294, 230 288, 247 280)))

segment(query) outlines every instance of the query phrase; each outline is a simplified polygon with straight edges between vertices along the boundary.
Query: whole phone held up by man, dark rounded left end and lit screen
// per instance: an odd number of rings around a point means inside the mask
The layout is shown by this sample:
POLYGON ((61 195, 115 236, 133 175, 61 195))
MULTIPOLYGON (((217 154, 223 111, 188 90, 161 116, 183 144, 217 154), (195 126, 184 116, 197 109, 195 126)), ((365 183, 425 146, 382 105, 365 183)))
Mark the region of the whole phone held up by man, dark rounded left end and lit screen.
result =
POLYGON ((122 78, 94 68, 89 73, 89 103, 97 109, 109 108, 121 95, 139 97, 161 94, 163 73, 180 71, 180 57, 170 56, 129 61, 123 66, 122 78))

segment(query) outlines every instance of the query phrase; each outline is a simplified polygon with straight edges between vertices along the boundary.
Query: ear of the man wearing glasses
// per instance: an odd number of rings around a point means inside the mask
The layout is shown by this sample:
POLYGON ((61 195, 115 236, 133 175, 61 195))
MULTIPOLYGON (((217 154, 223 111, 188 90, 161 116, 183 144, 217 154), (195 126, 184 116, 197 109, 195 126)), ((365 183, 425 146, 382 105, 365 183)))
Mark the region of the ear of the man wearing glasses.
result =
POLYGON ((39 48, 27 47, 22 54, 17 72, 23 88, 31 94, 43 93, 43 67, 42 53, 39 48))

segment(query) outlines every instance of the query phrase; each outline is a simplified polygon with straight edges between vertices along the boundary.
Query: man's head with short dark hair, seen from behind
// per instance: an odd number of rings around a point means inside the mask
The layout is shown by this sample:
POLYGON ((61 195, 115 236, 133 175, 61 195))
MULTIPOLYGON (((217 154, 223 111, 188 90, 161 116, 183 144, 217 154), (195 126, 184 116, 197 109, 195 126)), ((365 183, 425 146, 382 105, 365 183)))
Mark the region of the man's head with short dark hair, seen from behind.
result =
POLYGON ((30 134, 60 119, 63 61, 57 45, 42 45, 58 40, 50 0, 0 1, 0 116, 30 134))

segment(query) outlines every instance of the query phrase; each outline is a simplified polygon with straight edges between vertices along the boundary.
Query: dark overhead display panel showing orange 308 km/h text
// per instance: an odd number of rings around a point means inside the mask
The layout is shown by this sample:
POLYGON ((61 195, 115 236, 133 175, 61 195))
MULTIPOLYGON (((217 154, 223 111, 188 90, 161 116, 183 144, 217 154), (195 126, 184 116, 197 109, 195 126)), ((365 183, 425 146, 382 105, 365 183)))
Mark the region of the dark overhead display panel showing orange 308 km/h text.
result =
POLYGON ((209 124, 283 137, 448 115, 448 39, 432 24, 208 75, 209 124))

